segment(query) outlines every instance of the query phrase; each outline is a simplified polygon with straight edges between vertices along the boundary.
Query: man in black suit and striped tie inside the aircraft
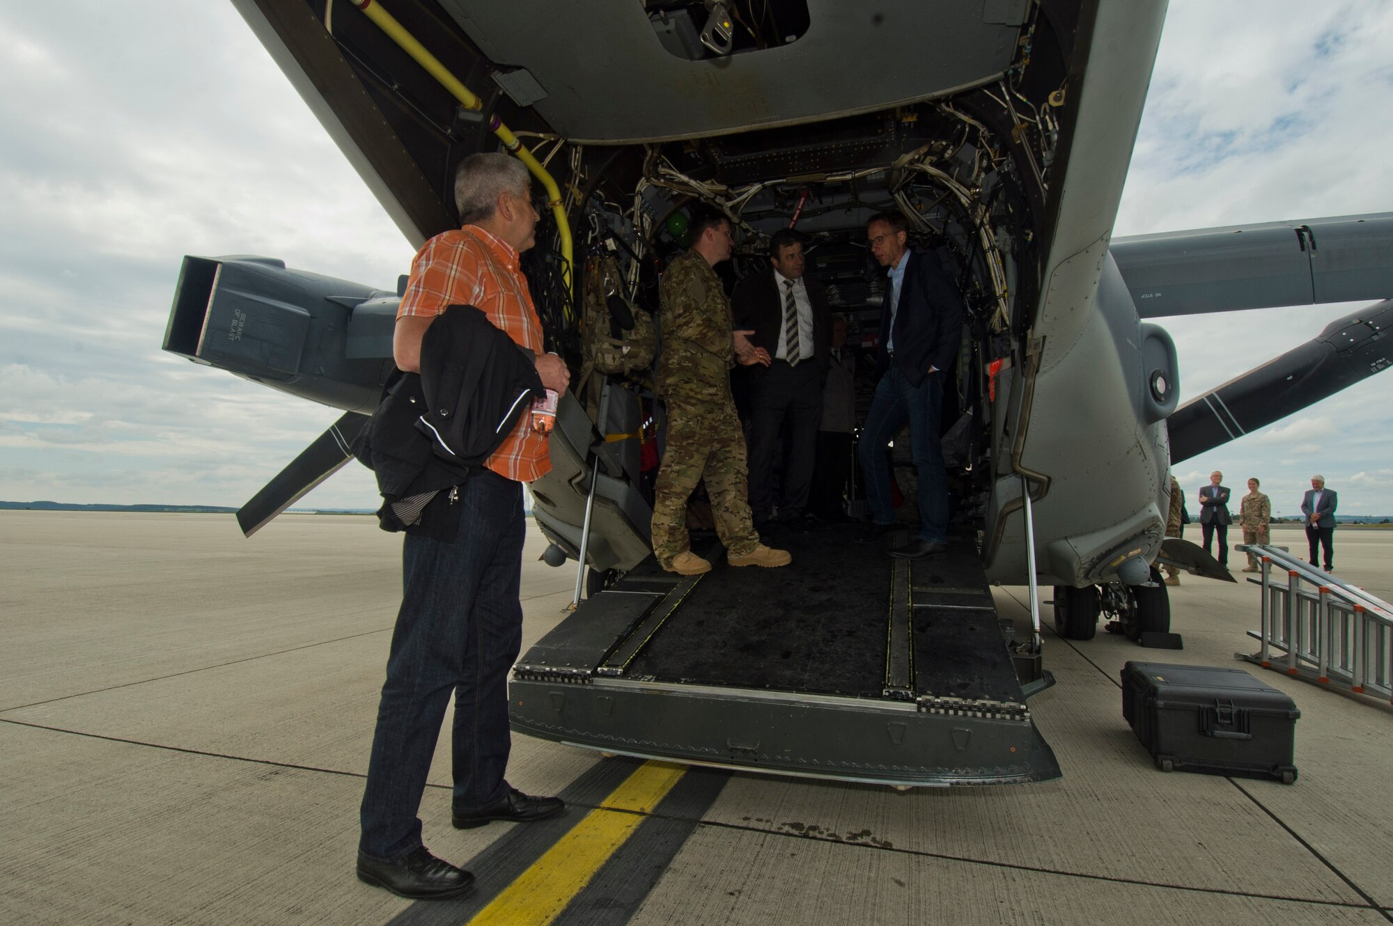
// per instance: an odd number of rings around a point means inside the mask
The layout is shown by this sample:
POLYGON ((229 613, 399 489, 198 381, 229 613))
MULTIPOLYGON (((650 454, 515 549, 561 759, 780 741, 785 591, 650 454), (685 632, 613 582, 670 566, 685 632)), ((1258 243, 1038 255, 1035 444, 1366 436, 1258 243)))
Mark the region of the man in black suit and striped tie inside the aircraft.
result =
POLYGON ((808 490, 822 421, 822 380, 832 338, 827 298, 804 276, 802 237, 781 228, 769 240, 769 267, 751 274, 731 301, 736 327, 754 331, 769 366, 749 368, 749 508, 755 524, 808 519, 808 490), (787 466, 775 490, 779 434, 788 423, 787 466))

